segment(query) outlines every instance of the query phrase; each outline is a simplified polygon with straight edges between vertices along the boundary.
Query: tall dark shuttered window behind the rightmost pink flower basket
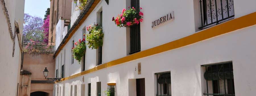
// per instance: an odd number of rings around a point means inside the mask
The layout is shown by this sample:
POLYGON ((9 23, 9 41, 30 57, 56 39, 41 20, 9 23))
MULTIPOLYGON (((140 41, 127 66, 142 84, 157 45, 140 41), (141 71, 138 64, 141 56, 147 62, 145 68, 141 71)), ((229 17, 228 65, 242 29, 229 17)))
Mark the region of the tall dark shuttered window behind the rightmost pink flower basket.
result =
MULTIPOLYGON (((139 0, 131 0, 131 7, 134 7, 135 9, 140 9, 140 1, 139 0)), ((130 53, 137 53, 141 51, 141 30, 140 30, 140 24, 133 25, 130 27, 130 53)))

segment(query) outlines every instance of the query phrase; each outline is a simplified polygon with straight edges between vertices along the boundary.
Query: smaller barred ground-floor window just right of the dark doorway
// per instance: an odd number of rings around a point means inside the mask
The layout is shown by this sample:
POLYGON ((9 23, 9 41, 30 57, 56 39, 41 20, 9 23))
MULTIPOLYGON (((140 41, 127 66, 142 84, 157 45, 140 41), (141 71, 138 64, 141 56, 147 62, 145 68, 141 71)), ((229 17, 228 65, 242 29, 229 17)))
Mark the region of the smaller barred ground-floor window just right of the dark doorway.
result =
POLYGON ((171 72, 155 73, 156 75, 156 96, 171 96, 171 72))

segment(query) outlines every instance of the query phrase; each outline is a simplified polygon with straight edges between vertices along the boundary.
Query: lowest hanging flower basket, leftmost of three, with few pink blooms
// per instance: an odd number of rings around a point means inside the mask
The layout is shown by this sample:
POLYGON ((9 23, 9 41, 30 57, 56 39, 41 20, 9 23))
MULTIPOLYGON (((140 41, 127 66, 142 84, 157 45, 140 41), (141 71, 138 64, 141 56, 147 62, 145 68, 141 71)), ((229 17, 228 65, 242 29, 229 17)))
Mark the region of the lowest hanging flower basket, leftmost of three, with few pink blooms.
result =
POLYGON ((71 49, 73 57, 78 61, 79 64, 86 51, 86 45, 84 41, 84 38, 82 40, 79 39, 77 42, 75 42, 75 46, 73 46, 71 49))

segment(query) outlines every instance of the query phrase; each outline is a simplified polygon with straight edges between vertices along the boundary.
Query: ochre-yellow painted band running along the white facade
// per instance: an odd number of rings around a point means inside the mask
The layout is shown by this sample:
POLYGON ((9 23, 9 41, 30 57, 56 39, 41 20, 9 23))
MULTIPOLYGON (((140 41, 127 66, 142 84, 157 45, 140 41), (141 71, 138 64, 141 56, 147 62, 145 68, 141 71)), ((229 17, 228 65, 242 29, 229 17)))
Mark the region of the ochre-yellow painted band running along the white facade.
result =
POLYGON ((157 47, 153 47, 151 49, 147 49, 147 50, 144 50, 144 51, 120 58, 120 59, 116 59, 116 60, 110 61, 105 64, 101 64, 92 69, 89 69, 89 70, 80 72, 78 74, 63 78, 63 80, 76 78, 78 76, 89 74, 89 73, 95 72, 95 71, 103 69, 103 68, 108 68, 108 67, 111 67, 114 65, 118 65, 118 64, 122 64, 122 63, 129 62, 132 60, 140 59, 140 58, 147 57, 150 55, 154 55, 154 54, 162 53, 162 52, 169 51, 172 49, 184 47, 184 46, 187 46, 187 45, 199 42, 199 41, 203 41, 203 40, 215 37, 215 36, 219 36, 219 35, 222 35, 222 34, 225 34, 228 32, 238 30, 241 28, 253 26, 255 24, 256 24, 256 12, 253 12, 251 14, 242 16, 240 18, 236 18, 236 19, 230 20, 228 22, 213 26, 206 30, 197 32, 190 36, 183 37, 181 39, 177 39, 175 41, 171 41, 169 43, 166 43, 166 44, 163 44, 163 45, 160 45, 157 47))

